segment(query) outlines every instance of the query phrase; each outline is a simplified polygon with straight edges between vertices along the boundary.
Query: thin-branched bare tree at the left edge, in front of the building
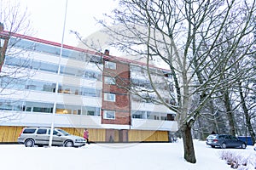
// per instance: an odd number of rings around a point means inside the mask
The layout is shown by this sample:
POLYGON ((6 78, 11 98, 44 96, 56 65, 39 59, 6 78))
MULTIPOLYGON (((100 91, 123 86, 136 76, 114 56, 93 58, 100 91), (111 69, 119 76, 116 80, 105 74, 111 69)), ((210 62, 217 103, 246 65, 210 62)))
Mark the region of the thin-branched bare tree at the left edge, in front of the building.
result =
MULTIPOLYGON (((19 93, 22 85, 25 88, 26 80, 34 73, 27 69, 31 64, 31 60, 26 57, 27 49, 17 48, 20 43, 20 37, 17 35, 28 35, 32 30, 29 14, 19 1, 0 0, 0 25, 0 37, 4 46, 0 56, 0 96, 2 102, 9 102, 9 95, 19 93)), ((17 114, 9 116, 2 113, 0 120, 8 121, 16 116, 17 114)))

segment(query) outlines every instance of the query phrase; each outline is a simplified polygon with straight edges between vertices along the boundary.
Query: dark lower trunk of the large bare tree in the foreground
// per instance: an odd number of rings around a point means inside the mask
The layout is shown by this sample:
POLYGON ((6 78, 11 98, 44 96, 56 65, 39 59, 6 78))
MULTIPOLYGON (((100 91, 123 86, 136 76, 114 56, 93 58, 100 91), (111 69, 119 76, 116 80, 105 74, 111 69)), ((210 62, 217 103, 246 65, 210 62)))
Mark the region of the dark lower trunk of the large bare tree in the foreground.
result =
POLYGON ((183 136, 184 159, 190 163, 195 163, 196 159, 191 127, 188 124, 183 124, 181 131, 183 136))

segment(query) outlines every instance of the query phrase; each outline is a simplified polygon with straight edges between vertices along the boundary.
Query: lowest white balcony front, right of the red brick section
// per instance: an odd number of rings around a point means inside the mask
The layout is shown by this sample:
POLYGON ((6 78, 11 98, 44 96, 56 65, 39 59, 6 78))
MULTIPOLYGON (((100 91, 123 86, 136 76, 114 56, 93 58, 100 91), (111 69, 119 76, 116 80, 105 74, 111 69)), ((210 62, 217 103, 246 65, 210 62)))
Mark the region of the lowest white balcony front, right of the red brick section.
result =
POLYGON ((152 119, 131 119, 131 129, 177 131, 177 122, 152 119))

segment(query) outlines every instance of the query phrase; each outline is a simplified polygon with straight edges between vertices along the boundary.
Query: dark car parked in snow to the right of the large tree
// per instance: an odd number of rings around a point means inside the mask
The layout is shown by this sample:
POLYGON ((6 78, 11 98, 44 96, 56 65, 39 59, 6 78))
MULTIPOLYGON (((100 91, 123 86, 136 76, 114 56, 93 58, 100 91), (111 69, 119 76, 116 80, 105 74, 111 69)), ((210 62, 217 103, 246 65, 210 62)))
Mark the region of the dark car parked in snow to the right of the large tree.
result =
POLYGON ((211 134, 207 137, 207 145, 221 148, 242 148, 246 149, 246 142, 237 139, 235 136, 230 134, 211 134))

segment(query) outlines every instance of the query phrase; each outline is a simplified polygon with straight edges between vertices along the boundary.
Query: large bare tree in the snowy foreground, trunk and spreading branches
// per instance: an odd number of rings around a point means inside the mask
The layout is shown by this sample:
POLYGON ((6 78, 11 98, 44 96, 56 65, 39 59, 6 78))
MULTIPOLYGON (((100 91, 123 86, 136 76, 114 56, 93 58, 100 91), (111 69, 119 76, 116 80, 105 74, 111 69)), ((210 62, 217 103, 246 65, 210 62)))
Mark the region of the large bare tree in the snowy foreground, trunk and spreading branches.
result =
MULTIPOLYGON (((166 76, 172 77, 176 96, 169 93, 169 98, 175 102, 166 102, 149 66, 145 68, 155 101, 177 113, 186 161, 196 162, 191 128, 201 110, 246 72, 232 70, 252 47, 254 11, 255 1, 119 0, 119 8, 106 14, 106 20, 99 20, 110 45, 133 59, 145 59, 147 65, 160 59, 170 70, 166 76), (232 33, 230 37, 226 31, 232 33), (241 44, 244 39, 247 41, 241 44), (233 58, 241 48, 239 56, 233 58)), ((134 88, 129 90, 139 94, 134 88)))

